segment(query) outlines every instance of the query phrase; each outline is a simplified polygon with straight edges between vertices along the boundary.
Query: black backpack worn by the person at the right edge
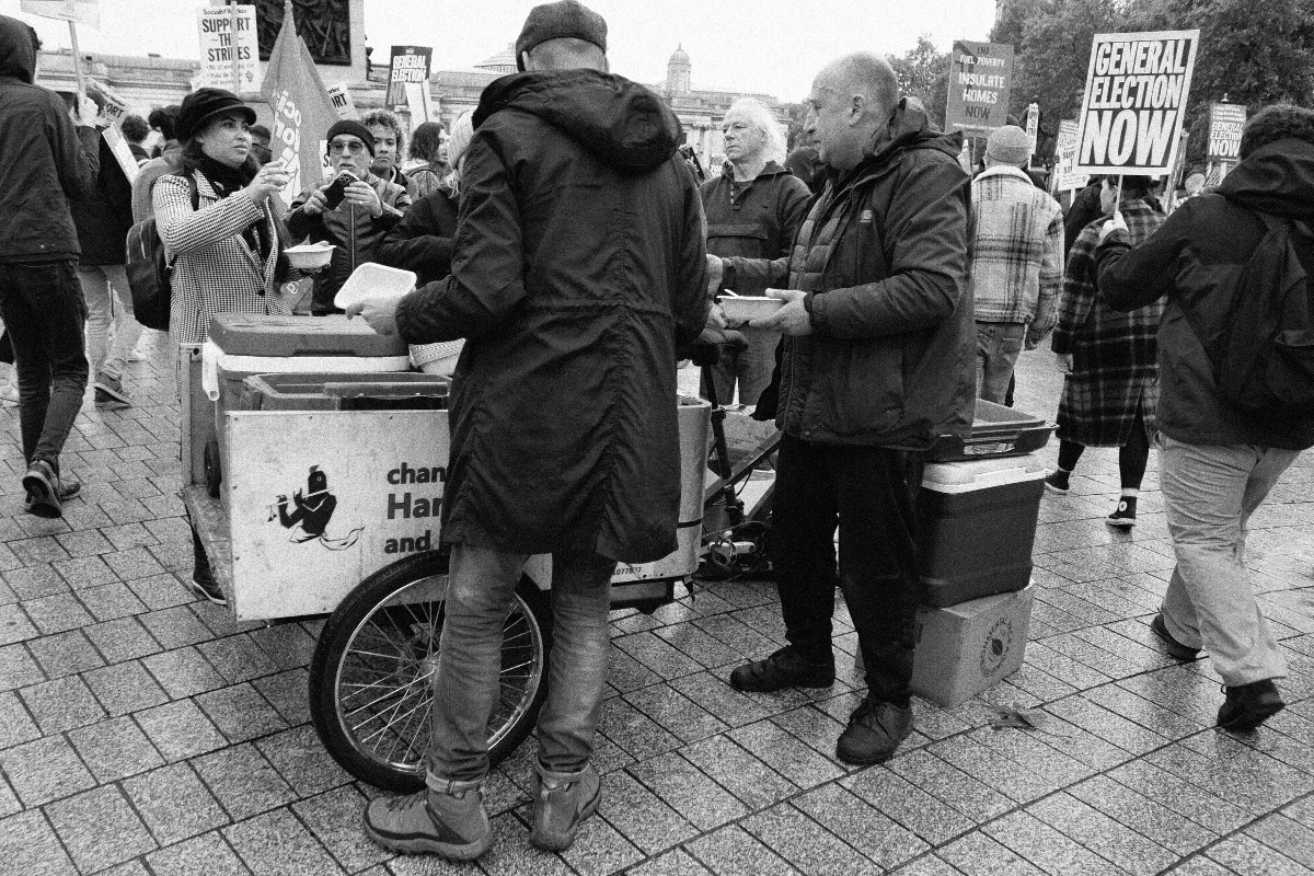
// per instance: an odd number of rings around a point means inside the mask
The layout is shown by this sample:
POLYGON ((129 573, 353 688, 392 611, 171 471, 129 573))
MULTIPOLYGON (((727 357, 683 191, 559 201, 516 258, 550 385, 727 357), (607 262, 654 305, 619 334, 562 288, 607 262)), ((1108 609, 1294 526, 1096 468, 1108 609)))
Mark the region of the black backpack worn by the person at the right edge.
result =
POLYGON ((1292 246, 1309 238, 1288 219, 1255 213, 1264 236, 1246 263, 1222 322, 1209 331, 1194 310, 1187 322, 1214 370, 1223 401, 1257 415, 1314 414, 1314 285, 1292 246))

